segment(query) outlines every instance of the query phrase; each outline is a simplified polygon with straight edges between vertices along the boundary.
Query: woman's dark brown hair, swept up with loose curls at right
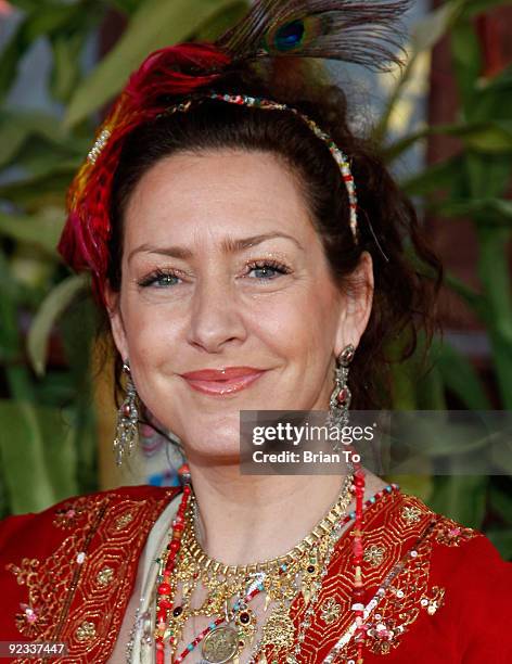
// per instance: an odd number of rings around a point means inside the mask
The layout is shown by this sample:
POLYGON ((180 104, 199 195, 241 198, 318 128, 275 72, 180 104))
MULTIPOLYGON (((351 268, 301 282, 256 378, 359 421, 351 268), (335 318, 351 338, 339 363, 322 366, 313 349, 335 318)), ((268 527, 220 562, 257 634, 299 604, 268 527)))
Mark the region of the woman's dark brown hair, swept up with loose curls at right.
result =
MULTIPOLYGON (((318 86, 315 90, 311 87, 306 97, 304 91, 280 90, 277 85, 269 89, 247 71, 226 75, 215 89, 287 103, 332 136, 350 161, 359 204, 359 242, 354 242, 349 229, 348 196, 340 168, 328 146, 300 118, 286 111, 205 100, 185 113, 164 114, 141 125, 127 138, 111 199, 113 232, 107 272, 111 288, 120 289, 123 217, 127 202, 138 181, 154 164, 182 151, 223 148, 268 151, 284 159, 298 176, 334 282, 340 286, 349 285, 361 252, 368 251, 372 256, 373 307, 350 369, 351 407, 389 407, 391 363, 413 354, 420 331, 425 333, 426 352, 435 329, 435 302, 443 277, 441 265, 427 245, 412 203, 400 191, 371 142, 350 130, 346 99, 337 87, 318 86), (391 358, 389 344, 398 337, 399 348, 395 347, 391 358)), ((169 106, 177 101, 180 100, 169 100, 169 106)), ((117 386, 120 366, 117 357, 117 386)))

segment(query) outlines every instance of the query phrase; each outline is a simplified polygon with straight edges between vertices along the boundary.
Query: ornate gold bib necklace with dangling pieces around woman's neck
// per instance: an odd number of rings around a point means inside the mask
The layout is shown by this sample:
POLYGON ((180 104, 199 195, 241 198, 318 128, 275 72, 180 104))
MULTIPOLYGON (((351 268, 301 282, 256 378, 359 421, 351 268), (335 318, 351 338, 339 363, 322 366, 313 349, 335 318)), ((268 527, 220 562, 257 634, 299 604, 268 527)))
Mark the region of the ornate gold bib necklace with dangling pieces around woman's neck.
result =
MULTIPOLYGON (((203 640, 203 661, 220 664, 233 660, 233 664, 236 664, 240 652, 246 644, 253 644, 256 634, 256 615, 242 601, 256 587, 266 592, 265 612, 271 601, 276 603, 261 626, 259 646, 272 643, 276 648, 291 648, 294 625, 290 605, 298 592, 303 593, 306 605, 309 603, 312 587, 321 579, 330 535, 350 505, 353 481, 353 474, 345 477, 338 497, 325 516, 287 553, 244 565, 226 565, 203 550, 197 539, 197 503, 192 493, 175 572, 175 588, 178 582, 182 583, 181 605, 172 611, 167 629, 171 635, 171 656, 188 618, 199 615, 226 616, 227 624, 219 625, 203 640), (200 583, 207 590, 207 596, 200 606, 193 608, 191 600, 200 583), (230 600, 235 598, 240 610, 233 614, 230 600)), ((165 564, 165 557, 163 560, 165 564)))

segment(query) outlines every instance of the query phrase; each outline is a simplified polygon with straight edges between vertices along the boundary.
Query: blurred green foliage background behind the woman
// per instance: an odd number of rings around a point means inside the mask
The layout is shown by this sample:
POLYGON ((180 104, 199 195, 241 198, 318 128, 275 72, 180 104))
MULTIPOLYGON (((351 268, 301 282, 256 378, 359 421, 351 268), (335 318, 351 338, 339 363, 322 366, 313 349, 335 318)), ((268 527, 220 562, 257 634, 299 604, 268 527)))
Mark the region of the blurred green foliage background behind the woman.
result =
MULTIPOLYGON (((119 472, 116 407, 88 281, 55 245, 65 192, 129 73, 151 51, 214 39, 245 0, 0 0, 0 516, 68 496, 178 483, 176 446, 142 426, 119 472)), ((398 410, 512 411, 512 1, 419 0, 401 74, 327 66, 354 123, 418 206, 446 280, 445 333, 419 374, 396 366, 398 410), (357 110, 356 110, 357 108, 357 110)), ((457 438, 446 437, 448 452, 457 438)), ((512 559, 512 444, 501 474, 389 477, 484 531, 512 559)))

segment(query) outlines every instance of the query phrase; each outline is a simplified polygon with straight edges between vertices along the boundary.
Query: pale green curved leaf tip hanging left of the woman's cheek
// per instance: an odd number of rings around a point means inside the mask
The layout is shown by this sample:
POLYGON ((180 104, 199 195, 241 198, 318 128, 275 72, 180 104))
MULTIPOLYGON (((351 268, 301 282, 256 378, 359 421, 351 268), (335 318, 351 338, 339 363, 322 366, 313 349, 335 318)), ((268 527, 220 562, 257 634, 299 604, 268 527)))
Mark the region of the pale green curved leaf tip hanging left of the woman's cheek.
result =
POLYGON ((50 292, 37 312, 28 332, 27 349, 38 375, 42 375, 46 370, 48 340, 53 325, 85 288, 87 280, 82 274, 68 277, 50 292))

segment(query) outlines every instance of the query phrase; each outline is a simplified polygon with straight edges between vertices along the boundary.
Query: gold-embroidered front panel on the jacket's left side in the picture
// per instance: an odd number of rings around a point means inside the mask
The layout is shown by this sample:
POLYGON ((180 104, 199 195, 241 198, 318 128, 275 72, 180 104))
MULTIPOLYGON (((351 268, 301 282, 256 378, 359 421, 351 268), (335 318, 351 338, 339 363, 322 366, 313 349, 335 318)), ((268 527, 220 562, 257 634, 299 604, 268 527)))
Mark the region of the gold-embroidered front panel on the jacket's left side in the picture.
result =
MULTIPOLYGON (((44 561, 23 559, 17 565, 7 565, 28 593, 15 616, 18 631, 29 639, 68 644, 68 655, 54 660, 54 664, 106 661, 131 595, 141 548, 172 494, 170 489, 131 500, 115 493, 78 498, 73 506, 81 520, 52 556, 44 561), (130 520, 119 532, 117 523, 127 514, 130 520), (100 540, 91 547, 93 537, 100 540), (115 570, 112 578, 111 569, 115 570), (107 578, 110 583, 103 585, 101 582, 107 578)), ((53 523, 64 527, 61 510, 53 523)))

